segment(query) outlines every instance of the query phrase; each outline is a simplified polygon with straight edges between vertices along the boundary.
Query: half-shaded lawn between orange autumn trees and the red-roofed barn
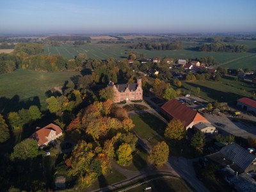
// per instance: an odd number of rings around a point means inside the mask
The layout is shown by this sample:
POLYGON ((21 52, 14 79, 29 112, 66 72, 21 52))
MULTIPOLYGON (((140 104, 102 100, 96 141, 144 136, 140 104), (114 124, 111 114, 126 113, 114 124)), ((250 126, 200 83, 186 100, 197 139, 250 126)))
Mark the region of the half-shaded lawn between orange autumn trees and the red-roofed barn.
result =
POLYGON ((163 141, 160 135, 163 135, 166 124, 150 113, 142 113, 140 115, 132 115, 134 130, 142 138, 147 139, 152 145, 163 141))

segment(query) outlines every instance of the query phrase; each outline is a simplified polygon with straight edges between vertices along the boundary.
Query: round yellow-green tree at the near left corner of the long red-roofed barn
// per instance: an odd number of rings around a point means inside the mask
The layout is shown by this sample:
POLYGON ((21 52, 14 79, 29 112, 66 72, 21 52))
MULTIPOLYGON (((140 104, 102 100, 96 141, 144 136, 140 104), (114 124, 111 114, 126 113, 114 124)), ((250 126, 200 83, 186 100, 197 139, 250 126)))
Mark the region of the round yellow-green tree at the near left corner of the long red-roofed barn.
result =
POLYGON ((182 140, 186 135, 186 129, 180 120, 173 118, 164 131, 164 137, 169 140, 182 140))

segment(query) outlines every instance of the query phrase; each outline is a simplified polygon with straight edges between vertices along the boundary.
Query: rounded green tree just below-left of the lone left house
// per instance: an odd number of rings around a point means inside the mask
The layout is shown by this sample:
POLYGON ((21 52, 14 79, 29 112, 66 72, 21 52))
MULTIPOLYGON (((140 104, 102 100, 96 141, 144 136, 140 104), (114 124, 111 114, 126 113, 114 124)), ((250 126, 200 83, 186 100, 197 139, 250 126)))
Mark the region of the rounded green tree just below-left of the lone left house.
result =
POLYGON ((38 156, 37 141, 33 139, 26 139, 15 145, 11 159, 26 160, 38 156))

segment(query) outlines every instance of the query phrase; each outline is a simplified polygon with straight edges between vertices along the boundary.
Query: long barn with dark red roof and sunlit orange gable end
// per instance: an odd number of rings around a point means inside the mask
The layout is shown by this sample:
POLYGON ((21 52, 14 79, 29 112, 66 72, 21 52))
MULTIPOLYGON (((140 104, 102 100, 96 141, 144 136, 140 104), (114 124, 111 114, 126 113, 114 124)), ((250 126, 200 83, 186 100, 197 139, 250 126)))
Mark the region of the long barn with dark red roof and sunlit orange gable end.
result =
POLYGON ((211 124, 204 116, 200 115, 191 108, 179 102, 179 100, 172 99, 166 102, 162 107, 161 111, 168 118, 175 118, 180 120, 186 129, 192 128, 193 125, 204 122, 211 124))

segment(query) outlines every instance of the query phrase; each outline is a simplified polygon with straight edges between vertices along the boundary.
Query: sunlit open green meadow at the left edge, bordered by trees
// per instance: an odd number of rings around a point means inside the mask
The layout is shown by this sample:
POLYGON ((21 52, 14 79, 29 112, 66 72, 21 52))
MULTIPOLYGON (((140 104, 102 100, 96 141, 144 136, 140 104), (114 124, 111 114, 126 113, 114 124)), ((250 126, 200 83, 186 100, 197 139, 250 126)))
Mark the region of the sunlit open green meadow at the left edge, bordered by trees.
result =
MULTIPOLYGON (((16 104, 24 105, 26 102, 32 102, 38 97, 42 110, 47 109, 45 102, 45 92, 52 88, 61 88, 65 81, 70 81, 70 77, 80 75, 79 72, 36 72, 34 70, 16 70, 11 74, 0 75, 0 113, 6 108, 19 108, 16 104), (17 95, 16 97, 14 97, 17 95), (9 100, 6 103, 3 99, 9 100), (4 102, 4 103, 3 103, 4 102), (15 106, 13 106, 15 105, 15 106), (4 108, 4 109, 3 109, 4 108)), ((37 100, 38 100, 37 99, 37 100)), ((38 101, 36 101, 38 102, 38 101)))

